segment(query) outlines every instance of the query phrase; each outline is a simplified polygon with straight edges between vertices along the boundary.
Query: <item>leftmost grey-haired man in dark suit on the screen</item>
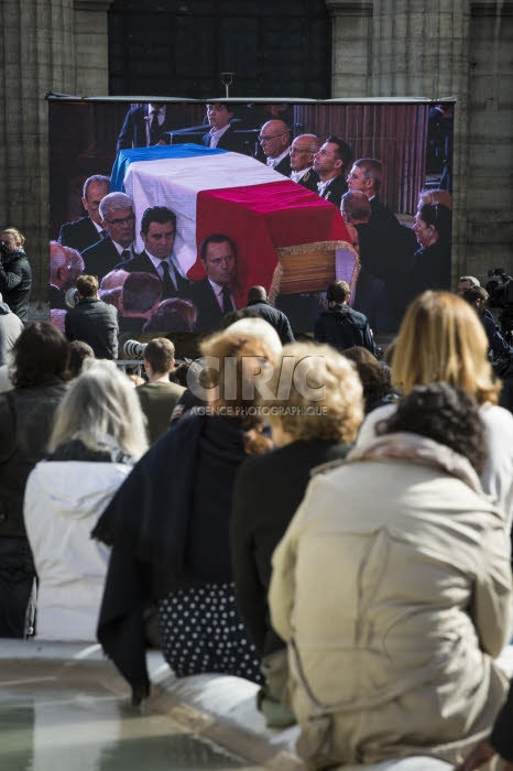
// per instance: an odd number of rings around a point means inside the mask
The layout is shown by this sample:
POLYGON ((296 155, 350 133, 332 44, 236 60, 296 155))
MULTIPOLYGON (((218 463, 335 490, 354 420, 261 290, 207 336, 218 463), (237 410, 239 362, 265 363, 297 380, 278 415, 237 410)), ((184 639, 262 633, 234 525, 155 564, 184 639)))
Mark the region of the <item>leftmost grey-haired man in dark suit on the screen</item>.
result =
POLYGON ((103 174, 95 174, 86 180, 81 205, 88 216, 62 226, 58 242, 63 247, 72 247, 81 253, 106 237, 100 217, 100 203, 109 189, 110 180, 103 174))

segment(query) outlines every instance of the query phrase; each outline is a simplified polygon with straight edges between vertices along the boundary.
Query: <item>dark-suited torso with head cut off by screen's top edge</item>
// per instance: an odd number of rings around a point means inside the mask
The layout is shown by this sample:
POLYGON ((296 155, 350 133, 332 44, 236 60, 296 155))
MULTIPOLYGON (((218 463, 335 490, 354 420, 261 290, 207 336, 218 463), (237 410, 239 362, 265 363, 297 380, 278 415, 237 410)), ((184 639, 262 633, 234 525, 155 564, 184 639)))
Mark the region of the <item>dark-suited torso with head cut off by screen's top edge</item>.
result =
POLYGON ((118 137, 116 152, 132 148, 149 148, 153 144, 170 144, 168 131, 183 121, 181 112, 163 101, 150 102, 142 107, 132 107, 127 112, 118 137))

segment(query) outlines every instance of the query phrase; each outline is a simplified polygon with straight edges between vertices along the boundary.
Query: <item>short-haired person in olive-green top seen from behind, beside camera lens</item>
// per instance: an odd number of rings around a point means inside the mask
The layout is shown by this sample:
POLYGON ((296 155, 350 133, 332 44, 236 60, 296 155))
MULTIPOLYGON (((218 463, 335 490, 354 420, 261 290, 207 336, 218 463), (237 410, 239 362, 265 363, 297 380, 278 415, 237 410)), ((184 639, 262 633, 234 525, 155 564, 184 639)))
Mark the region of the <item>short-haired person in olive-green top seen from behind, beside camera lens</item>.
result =
POLYGON ((165 434, 171 415, 184 388, 170 381, 175 366, 175 347, 165 337, 154 337, 144 348, 144 370, 148 382, 139 386, 137 394, 146 417, 150 444, 165 434))

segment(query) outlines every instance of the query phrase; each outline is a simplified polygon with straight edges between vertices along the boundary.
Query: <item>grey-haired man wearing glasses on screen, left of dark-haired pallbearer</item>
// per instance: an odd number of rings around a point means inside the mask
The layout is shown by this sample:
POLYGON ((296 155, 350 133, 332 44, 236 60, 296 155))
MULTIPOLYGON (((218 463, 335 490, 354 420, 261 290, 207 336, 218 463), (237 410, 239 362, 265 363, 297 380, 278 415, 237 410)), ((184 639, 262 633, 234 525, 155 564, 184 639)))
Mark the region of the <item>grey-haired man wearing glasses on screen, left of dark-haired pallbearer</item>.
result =
POLYGON ((98 282, 120 262, 135 256, 135 215, 130 196, 109 193, 100 202, 100 217, 107 238, 83 252, 85 272, 96 275, 98 282))

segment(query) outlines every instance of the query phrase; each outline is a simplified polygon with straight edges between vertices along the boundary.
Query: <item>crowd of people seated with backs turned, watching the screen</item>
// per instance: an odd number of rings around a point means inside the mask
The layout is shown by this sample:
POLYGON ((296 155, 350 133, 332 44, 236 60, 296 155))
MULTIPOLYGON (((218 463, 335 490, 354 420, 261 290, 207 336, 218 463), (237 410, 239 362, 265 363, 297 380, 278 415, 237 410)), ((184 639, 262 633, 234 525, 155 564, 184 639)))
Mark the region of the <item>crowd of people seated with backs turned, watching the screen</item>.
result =
MULTIPOLYGON (((153 348, 150 387, 173 359, 153 348)), ((148 448, 142 390, 114 362, 80 350, 68 382, 65 336, 23 329, 0 394, 1 634, 98 639, 138 703, 150 612, 177 677, 259 684, 255 708, 297 721, 310 769, 513 760, 495 662, 513 623, 513 416, 474 310, 416 297, 391 381, 367 349, 282 347, 254 316, 201 354, 196 401, 173 421, 167 404, 148 448)))

